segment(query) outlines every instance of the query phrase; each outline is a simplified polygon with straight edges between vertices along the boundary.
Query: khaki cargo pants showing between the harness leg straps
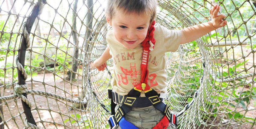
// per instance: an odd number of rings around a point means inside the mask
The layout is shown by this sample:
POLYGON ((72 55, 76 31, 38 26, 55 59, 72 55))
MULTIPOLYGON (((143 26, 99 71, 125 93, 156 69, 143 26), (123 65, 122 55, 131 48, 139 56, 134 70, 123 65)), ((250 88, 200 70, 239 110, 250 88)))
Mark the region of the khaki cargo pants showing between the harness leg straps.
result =
MULTIPOLYGON (((115 111, 121 104, 117 104, 115 111)), ((130 112, 124 115, 124 118, 131 122, 133 125, 137 126, 140 129, 152 129, 160 120, 164 117, 164 113, 155 107, 147 108, 132 108, 130 112)), ((120 126, 117 129, 121 129, 120 126)), ((167 129, 176 129, 173 125, 169 124, 167 129)))

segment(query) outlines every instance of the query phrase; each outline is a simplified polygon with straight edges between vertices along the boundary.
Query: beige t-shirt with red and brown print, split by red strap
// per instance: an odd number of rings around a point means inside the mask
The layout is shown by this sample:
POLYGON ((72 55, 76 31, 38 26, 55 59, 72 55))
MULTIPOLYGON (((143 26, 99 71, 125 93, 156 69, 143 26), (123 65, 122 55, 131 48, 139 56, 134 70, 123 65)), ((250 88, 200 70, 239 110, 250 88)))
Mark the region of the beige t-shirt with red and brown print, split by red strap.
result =
MULTIPOLYGON (((156 42, 148 58, 148 85, 158 94, 166 94, 167 71, 164 53, 175 52, 178 49, 182 32, 169 30, 156 23, 154 34, 156 42)), ((114 62, 112 88, 117 94, 127 95, 141 79, 142 45, 139 44, 134 49, 126 49, 115 39, 113 30, 108 31, 106 38, 114 62)), ((145 97, 143 91, 140 96, 145 97)))

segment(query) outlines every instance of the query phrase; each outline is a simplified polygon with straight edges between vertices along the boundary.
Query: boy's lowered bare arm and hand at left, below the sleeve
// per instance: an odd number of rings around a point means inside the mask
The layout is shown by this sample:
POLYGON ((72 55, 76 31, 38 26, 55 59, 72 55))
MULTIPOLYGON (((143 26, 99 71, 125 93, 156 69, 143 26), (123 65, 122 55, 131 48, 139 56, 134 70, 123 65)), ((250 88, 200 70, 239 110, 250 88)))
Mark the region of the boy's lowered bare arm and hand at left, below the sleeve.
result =
POLYGON ((106 62, 108 61, 108 59, 110 59, 112 56, 109 53, 109 47, 107 46, 107 48, 105 49, 105 51, 103 52, 103 54, 100 56, 100 58, 96 59, 95 61, 93 61, 91 63, 92 67, 96 67, 99 71, 103 71, 105 70, 105 67, 107 67, 106 62))

